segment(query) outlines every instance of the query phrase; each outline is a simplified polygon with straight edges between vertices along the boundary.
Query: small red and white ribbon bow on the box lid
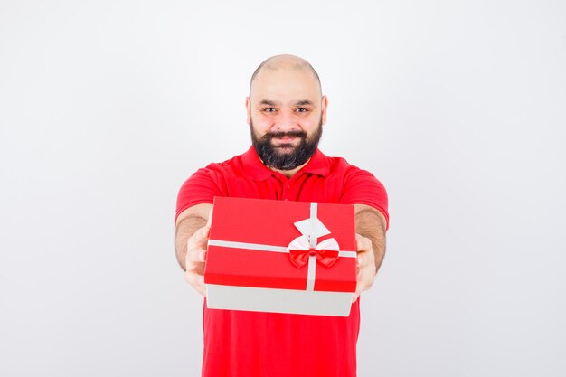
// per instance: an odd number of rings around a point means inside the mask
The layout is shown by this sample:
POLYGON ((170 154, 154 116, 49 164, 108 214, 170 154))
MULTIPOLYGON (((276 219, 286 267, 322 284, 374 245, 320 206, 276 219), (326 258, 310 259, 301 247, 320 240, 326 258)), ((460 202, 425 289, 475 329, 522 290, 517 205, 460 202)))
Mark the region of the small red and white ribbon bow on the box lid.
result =
POLYGON ((340 247, 334 238, 323 240, 312 248, 305 236, 297 237, 288 246, 291 262, 298 268, 303 267, 308 262, 308 257, 316 256, 316 261, 325 267, 331 267, 338 259, 340 247))

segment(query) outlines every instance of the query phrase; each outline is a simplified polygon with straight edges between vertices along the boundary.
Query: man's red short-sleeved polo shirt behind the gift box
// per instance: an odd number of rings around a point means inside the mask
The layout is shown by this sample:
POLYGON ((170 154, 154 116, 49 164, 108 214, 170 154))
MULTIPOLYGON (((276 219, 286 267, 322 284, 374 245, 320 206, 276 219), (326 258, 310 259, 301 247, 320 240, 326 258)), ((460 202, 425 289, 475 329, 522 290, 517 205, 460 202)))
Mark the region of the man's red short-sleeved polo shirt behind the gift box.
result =
MULTIPOLYGON (((320 150, 287 178, 261 163, 255 149, 199 169, 177 198, 177 216, 214 196, 367 204, 389 227, 387 193, 369 172, 320 150)), ((354 377, 360 300, 350 316, 304 316, 203 306, 203 377, 354 377)))

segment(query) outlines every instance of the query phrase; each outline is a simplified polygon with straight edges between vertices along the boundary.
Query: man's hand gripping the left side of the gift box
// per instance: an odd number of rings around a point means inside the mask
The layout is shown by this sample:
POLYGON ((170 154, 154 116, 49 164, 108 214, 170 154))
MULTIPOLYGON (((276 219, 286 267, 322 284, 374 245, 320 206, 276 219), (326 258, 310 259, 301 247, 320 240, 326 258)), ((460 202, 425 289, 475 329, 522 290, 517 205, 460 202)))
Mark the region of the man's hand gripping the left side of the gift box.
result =
POLYGON ((206 297, 204 263, 206 262, 206 250, 208 249, 211 221, 212 209, 208 216, 207 224, 203 226, 203 228, 196 230, 189 240, 187 240, 187 252, 185 257, 186 269, 184 271, 184 280, 204 297, 206 297))

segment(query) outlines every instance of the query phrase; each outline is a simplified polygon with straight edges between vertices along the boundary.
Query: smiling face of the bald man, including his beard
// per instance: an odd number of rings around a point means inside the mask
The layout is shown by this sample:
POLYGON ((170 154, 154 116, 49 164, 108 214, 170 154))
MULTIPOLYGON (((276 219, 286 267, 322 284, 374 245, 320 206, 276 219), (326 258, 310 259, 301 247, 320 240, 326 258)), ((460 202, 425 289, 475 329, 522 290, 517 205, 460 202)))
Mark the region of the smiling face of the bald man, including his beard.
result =
POLYGON ((325 124, 327 99, 308 70, 264 69, 246 99, 251 140, 270 168, 293 170, 313 156, 325 124))

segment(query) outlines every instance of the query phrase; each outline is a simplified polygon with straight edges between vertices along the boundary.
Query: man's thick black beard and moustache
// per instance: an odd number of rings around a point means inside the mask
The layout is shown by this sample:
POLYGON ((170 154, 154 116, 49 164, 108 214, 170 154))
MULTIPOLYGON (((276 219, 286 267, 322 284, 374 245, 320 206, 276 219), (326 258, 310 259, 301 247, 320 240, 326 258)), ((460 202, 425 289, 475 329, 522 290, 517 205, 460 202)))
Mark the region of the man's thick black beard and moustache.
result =
POLYGON ((253 132, 251 120, 250 131, 251 144, 256 149, 264 165, 277 170, 293 170, 297 166, 305 164, 315 154, 320 137, 322 137, 322 119, 312 137, 307 137, 305 131, 296 130, 268 132, 258 138, 253 132), (271 143, 272 139, 281 137, 300 137, 301 141, 297 146, 292 144, 273 146, 271 143))

